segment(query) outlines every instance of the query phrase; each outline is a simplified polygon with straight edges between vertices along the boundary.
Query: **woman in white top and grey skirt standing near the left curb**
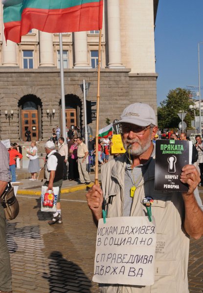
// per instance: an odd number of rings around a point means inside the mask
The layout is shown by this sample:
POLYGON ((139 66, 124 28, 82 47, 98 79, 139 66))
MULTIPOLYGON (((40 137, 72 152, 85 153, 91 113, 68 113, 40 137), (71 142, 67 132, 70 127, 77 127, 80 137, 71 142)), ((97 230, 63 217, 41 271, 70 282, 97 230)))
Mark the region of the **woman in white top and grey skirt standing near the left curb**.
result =
POLYGON ((40 164, 39 159, 37 156, 37 147, 36 147, 36 141, 31 141, 31 148, 27 150, 27 154, 29 155, 29 172, 32 175, 32 178, 29 180, 36 180, 36 173, 40 171, 40 164))

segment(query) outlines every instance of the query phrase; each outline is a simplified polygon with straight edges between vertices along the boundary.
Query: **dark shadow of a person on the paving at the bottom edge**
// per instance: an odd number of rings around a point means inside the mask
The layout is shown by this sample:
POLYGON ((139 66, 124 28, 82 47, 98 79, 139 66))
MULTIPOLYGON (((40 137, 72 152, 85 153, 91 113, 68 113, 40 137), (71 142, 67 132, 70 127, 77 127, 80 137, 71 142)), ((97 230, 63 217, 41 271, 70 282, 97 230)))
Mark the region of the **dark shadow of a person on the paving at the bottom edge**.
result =
POLYGON ((56 292, 58 288, 62 292, 90 293, 91 282, 80 267, 63 258, 60 251, 52 251, 48 258, 49 273, 44 273, 43 278, 49 282, 49 293, 56 292))

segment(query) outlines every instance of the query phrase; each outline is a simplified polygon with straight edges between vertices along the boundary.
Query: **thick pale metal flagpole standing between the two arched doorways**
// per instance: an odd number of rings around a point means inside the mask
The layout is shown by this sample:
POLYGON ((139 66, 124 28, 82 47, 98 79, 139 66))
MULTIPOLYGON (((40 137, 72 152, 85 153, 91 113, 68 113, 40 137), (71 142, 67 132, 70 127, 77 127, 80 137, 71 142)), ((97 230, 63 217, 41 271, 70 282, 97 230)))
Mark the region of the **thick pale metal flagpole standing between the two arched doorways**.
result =
POLYGON ((65 90, 64 90, 64 60, 63 60, 63 42, 62 33, 59 33, 59 46, 60 46, 60 72, 61 72, 61 111, 62 111, 62 129, 64 143, 67 144, 66 138, 66 105, 65 105, 65 90))

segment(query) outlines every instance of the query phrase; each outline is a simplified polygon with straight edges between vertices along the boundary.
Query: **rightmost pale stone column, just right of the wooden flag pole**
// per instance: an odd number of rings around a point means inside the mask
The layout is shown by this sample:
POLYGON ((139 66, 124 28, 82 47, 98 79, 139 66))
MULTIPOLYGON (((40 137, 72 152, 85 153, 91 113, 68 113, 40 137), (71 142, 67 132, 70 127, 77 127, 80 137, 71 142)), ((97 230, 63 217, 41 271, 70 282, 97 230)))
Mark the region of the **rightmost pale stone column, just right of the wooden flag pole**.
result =
POLYGON ((108 67, 123 67, 121 62, 120 8, 118 0, 107 1, 108 11, 108 67))

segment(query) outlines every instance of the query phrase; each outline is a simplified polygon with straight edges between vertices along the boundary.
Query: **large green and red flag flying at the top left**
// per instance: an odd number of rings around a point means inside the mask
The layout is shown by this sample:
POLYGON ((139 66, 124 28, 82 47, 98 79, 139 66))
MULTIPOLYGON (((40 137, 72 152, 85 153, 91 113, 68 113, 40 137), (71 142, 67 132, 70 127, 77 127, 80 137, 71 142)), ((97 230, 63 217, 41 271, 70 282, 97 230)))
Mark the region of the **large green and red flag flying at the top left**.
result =
POLYGON ((103 0, 2 0, 6 40, 21 42, 32 28, 50 33, 99 30, 103 0))

